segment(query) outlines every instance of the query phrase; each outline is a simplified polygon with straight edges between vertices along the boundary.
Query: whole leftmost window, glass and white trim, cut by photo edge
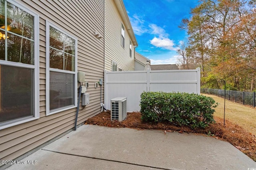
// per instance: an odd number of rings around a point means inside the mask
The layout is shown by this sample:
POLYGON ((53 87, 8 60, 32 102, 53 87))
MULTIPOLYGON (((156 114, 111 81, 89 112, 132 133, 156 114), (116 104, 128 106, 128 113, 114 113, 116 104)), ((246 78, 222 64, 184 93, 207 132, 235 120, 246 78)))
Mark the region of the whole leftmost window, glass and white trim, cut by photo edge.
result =
POLYGON ((0 129, 39 118, 39 16, 0 0, 0 129))

